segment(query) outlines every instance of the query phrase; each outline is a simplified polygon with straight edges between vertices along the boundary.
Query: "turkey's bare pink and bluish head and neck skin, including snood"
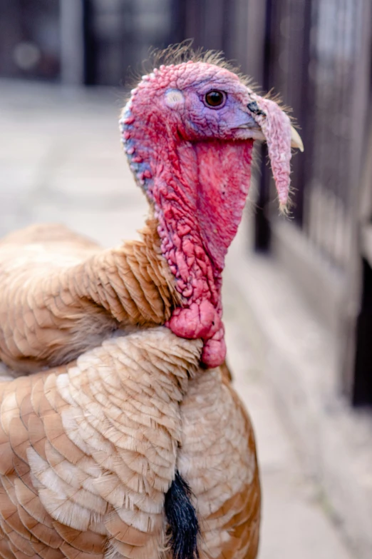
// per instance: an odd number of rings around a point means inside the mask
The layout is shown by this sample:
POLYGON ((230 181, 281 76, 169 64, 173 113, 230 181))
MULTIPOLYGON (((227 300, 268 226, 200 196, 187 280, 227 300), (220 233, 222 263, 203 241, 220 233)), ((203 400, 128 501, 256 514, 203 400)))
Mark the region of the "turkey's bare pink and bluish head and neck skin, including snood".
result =
POLYGON ((202 338, 202 362, 219 366, 226 355, 222 270, 248 193, 252 138, 259 124, 267 136, 279 201, 285 204, 288 116, 235 74, 187 62, 144 76, 120 124, 130 166, 155 205, 162 254, 181 296, 181 306, 165 326, 183 338, 202 338), (227 94, 224 106, 206 106, 211 90, 227 94), (254 111, 247 109, 249 103, 254 111))

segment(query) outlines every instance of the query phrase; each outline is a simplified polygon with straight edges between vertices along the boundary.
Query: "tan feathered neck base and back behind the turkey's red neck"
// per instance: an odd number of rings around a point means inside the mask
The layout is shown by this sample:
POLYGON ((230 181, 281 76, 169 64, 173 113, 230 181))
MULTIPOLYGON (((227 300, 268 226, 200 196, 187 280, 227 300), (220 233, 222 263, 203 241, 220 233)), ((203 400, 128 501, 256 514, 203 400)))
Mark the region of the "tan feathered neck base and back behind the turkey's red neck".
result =
POLYGON ((15 371, 68 363, 118 328, 162 325, 179 304, 154 218, 142 241, 105 251, 47 232, 26 230, 26 243, 0 251, 0 359, 15 371))

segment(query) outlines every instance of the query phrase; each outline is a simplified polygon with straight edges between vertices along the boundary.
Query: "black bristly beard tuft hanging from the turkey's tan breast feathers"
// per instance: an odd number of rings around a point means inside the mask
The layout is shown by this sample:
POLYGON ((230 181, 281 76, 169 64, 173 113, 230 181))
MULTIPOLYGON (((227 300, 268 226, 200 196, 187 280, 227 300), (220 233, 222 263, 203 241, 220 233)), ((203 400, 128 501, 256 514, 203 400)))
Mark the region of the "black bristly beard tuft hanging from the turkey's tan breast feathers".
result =
POLYGON ((198 559, 200 527, 197 513, 191 502, 190 486, 178 471, 165 495, 165 514, 169 524, 173 559, 198 559))

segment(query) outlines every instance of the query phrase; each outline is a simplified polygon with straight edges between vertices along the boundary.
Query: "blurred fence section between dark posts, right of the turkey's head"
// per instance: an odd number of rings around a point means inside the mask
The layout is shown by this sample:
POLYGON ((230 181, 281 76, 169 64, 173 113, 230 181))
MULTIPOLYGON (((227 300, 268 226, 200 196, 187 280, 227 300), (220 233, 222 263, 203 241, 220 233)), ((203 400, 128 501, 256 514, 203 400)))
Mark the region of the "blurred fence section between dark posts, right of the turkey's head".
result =
POLYGON ((350 260, 358 181, 353 146, 360 144, 355 121, 357 67, 366 49, 363 0, 271 0, 269 89, 294 109, 306 156, 294 158, 293 216, 311 243, 331 263, 350 260))

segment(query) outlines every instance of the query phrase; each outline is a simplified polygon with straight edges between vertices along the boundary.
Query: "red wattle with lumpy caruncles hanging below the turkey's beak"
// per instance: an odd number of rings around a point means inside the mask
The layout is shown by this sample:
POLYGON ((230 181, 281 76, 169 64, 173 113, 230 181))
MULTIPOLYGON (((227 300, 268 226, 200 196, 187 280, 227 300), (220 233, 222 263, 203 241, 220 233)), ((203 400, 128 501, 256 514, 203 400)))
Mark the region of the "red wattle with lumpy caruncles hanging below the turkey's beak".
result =
POLYGON ((175 154, 187 183, 165 168, 152 192, 162 253, 182 295, 182 307, 166 326, 177 336, 202 338, 208 367, 221 365, 226 355, 222 270, 242 218, 251 156, 250 141, 188 144, 175 154))

